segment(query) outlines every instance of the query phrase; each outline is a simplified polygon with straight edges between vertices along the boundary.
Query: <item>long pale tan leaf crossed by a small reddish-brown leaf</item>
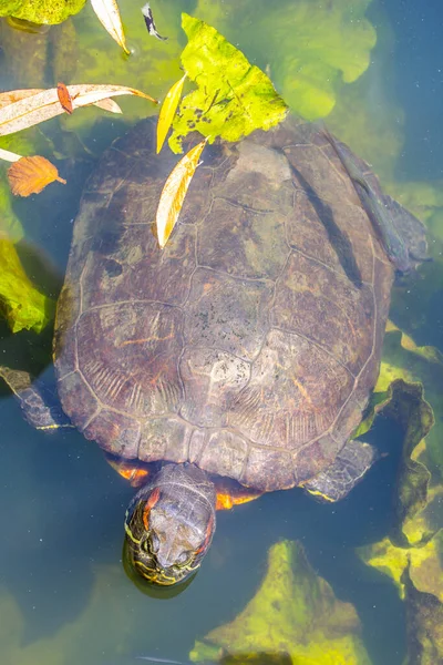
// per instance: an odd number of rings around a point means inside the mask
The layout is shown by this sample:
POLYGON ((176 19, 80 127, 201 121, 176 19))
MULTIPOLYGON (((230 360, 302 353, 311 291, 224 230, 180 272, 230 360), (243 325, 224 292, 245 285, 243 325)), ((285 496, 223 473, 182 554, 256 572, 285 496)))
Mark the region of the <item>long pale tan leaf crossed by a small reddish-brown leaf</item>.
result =
MULTIPOLYGON (((23 93, 24 91, 20 92, 23 93)), ((31 127, 32 125, 39 124, 45 120, 54 117, 55 115, 64 113, 64 109, 59 100, 56 88, 32 92, 33 94, 28 96, 22 94, 21 99, 18 101, 3 106, 1 106, 0 98, 0 136, 19 132, 20 130, 31 127)), ((125 85, 70 85, 69 93, 72 100, 73 109, 96 104, 97 102, 101 102, 107 98, 119 96, 122 94, 133 94, 145 98, 155 104, 158 103, 157 100, 154 100, 148 94, 145 94, 140 90, 135 90, 134 88, 126 88, 125 85)), ((2 94, 11 95, 12 93, 9 92, 2 94)))

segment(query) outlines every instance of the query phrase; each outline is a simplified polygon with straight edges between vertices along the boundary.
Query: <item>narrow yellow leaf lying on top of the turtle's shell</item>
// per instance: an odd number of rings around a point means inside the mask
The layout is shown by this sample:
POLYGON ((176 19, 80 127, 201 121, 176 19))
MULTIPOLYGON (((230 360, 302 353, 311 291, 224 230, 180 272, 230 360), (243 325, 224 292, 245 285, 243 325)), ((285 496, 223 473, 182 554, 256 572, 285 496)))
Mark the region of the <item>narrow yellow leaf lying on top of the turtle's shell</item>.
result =
POLYGON ((182 157, 163 187, 156 216, 158 245, 162 248, 166 245, 167 238, 177 222, 187 188, 198 166, 198 160, 205 144, 206 140, 198 143, 182 157))

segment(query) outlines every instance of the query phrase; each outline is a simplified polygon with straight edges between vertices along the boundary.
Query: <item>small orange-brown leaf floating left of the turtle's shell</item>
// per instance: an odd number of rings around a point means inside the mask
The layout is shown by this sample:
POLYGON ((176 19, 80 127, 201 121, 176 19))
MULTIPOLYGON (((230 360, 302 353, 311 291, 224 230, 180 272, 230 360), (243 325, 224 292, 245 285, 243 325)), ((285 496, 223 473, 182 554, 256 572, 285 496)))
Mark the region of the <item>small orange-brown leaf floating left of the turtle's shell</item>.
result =
POLYGON ((12 164, 8 170, 8 180, 12 194, 18 196, 39 194, 54 181, 66 184, 66 181, 59 176, 55 166, 40 155, 21 157, 12 164))

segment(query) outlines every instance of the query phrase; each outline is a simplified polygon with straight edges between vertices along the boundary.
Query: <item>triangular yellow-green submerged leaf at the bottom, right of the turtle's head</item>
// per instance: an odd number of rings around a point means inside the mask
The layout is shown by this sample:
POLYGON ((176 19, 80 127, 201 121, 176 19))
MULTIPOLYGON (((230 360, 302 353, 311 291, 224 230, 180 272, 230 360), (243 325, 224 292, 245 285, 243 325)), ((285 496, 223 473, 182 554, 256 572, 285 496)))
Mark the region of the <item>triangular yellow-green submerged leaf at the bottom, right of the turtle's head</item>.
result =
POLYGON ((251 665, 370 665, 353 605, 336 598, 302 546, 291 541, 272 545, 254 598, 231 623, 196 642, 189 657, 251 665))

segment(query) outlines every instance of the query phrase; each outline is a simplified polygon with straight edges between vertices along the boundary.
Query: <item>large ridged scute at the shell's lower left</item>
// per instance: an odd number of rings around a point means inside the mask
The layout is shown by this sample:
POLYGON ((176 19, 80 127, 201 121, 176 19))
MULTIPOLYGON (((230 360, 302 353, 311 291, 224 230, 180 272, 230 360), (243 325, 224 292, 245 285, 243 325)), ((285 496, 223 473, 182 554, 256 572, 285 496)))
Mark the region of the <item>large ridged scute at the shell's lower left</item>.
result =
POLYGON ((79 365, 101 403, 135 417, 178 409, 182 319, 175 307, 146 303, 110 305, 82 315, 79 365), (97 340, 95 347, 92 339, 97 340))

